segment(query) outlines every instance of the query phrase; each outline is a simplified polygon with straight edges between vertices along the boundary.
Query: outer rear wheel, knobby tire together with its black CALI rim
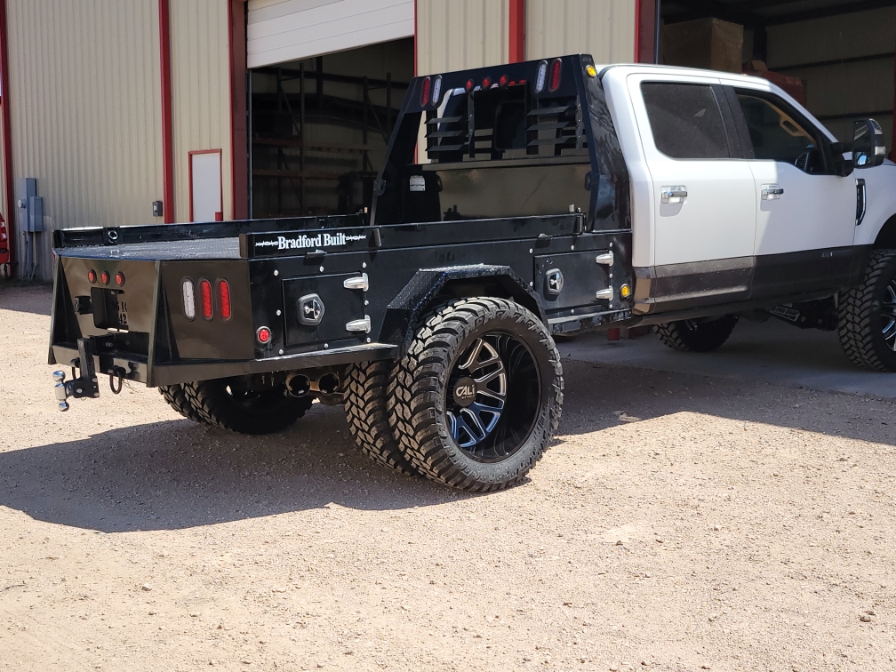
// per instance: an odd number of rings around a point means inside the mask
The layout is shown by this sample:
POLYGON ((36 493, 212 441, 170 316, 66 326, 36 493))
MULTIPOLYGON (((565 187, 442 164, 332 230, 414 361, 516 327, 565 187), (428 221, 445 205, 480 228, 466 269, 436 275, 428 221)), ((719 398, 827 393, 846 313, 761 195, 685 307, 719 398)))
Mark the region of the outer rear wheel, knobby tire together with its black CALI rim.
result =
POLYGON ((488 492, 541 458, 563 406, 563 368, 538 317, 503 298, 432 314, 392 370, 393 435, 427 478, 488 492))

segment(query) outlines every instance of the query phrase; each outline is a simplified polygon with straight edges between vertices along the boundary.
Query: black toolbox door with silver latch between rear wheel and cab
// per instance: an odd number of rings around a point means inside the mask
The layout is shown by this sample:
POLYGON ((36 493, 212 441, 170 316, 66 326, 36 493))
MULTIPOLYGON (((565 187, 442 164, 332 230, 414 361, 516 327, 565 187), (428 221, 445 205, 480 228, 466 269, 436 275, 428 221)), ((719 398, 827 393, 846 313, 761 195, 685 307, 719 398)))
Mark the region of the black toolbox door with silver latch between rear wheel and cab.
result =
POLYGON ((598 251, 538 254, 533 288, 549 316, 557 311, 606 306, 597 297, 609 287, 609 269, 597 262, 598 251))

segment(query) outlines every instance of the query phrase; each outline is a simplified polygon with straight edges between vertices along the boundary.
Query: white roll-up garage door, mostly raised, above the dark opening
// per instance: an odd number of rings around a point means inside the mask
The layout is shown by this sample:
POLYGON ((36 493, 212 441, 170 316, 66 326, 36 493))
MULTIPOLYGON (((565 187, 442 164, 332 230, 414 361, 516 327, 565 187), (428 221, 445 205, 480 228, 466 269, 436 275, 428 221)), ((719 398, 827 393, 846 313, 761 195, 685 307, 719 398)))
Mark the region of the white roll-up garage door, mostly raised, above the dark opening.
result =
POLYGON ((249 0, 250 68, 414 35, 414 0, 249 0))

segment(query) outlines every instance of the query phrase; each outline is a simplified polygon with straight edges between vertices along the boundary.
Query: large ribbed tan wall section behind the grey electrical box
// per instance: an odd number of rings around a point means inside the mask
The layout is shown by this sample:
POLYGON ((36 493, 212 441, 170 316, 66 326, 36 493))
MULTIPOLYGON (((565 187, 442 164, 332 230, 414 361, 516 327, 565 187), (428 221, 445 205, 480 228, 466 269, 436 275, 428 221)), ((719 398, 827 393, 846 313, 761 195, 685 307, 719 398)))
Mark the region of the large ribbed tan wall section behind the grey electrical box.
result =
MULTIPOLYGON (((161 198, 156 0, 6 0, 13 178, 45 229, 141 224, 161 198)), ((50 280, 51 235, 36 277, 50 280)), ((17 245, 19 271, 24 246, 17 245)))

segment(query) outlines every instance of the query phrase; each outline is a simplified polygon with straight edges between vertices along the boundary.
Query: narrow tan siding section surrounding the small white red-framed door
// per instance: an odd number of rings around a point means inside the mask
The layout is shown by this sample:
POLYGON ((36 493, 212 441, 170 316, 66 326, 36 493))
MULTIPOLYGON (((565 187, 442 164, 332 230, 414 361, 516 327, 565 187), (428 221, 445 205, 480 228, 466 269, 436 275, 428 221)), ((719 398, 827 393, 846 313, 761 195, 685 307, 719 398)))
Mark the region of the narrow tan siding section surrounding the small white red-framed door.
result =
POLYGON ((176 219, 190 219, 189 152, 198 150, 221 150, 224 219, 231 219, 228 4, 172 0, 169 10, 176 219))

